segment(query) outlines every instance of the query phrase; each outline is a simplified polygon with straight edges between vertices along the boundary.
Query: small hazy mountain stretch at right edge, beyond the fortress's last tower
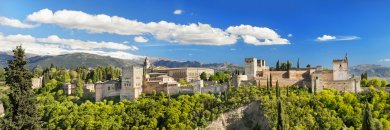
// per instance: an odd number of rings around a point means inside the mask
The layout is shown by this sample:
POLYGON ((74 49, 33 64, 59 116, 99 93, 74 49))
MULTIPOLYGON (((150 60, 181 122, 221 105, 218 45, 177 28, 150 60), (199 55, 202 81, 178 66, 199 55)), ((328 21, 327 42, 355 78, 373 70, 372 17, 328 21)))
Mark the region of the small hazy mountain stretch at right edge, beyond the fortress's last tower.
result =
POLYGON ((367 72, 369 77, 390 77, 390 67, 375 64, 362 64, 349 68, 349 73, 360 76, 367 72))

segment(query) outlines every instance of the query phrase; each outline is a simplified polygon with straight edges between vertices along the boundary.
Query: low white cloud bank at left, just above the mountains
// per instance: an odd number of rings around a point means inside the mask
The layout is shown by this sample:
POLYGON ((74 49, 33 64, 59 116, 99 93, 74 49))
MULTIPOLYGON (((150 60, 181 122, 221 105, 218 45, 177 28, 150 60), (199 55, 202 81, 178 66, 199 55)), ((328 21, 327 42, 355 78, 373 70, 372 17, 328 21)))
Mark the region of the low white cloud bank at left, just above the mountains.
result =
POLYGON ((0 34, 0 52, 9 52, 17 45, 22 45, 27 53, 35 55, 61 55, 83 52, 121 59, 142 58, 142 56, 124 52, 124 50, 137 50, 137 47, 114 42, 63 39, 55 35, 47 38, 35 38, 31 35, 5 36, 0 34))

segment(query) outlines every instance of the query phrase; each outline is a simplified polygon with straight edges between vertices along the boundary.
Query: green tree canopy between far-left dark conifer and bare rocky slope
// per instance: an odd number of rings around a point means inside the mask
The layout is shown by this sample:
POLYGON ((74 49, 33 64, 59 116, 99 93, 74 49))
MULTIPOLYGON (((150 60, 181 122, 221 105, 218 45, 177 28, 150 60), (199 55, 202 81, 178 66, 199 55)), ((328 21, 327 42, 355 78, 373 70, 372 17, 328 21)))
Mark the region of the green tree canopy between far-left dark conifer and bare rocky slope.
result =
POLYGON ((75 96, 62 90, 38 96, 39 111, 48 129, 195 129, 205 127, 218 114, 257 99, 255 87, 233 88, 231 94, 142 96, 135 101, 86 101, 78 105, 75 96))

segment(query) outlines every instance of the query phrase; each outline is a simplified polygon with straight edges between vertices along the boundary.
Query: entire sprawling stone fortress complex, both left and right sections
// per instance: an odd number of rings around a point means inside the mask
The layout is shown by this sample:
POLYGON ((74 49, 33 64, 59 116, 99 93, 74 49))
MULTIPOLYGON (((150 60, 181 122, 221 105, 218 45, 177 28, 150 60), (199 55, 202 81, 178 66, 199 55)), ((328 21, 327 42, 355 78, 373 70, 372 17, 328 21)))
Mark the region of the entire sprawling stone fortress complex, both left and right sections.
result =
MULTIPOLYGON (((318 92, 322 89, 336 89, 358 93, 360 79, 348 74, 348 56, 333 60, 333 69, 324 69, 322 66, 292 68, 291 63, 284 64, 284 68, 271 68, 265 60, 245 58, 245 74, 235 72, 233 74, 233 86, 240 87, 244 84, 266 86, 271 84, 285 86, 301 86, 318 92)), ((203 81, 201 73, 209 77, 214 74, 209 68, 166 68, 153 67, 146 58, 143 67, 123 67, 120 80, 110 80, 87 84, 84 86, 88 92, 95 91, 95 101, 102 101, 106 97, 119 96, 120 100, 133 100, 141 93, 154 94, 165 93, 176 95, 183 93, 219 93, 225 91, 228 84, 216 84, 215 81, 203 81), (180 83, 179 83, 180 82, 180 83), (184 82, 184 84, 183 84, 184 82)), ((207 77, 207 78, 208 78, 207 77)), ((64 84, 66 94, 72 94, 75 89, 73 84, 64 84)))

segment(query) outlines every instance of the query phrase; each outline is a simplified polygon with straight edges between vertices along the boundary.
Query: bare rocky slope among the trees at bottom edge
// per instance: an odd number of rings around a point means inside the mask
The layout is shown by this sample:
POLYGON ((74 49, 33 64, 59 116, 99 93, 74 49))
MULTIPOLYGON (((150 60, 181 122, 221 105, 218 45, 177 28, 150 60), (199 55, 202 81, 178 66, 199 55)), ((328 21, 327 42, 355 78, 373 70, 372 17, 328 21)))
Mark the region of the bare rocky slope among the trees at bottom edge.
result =
POLYGON ((221 114, 206 130, 268 130, 269 125, 260 111, 260 101, 221 114))

